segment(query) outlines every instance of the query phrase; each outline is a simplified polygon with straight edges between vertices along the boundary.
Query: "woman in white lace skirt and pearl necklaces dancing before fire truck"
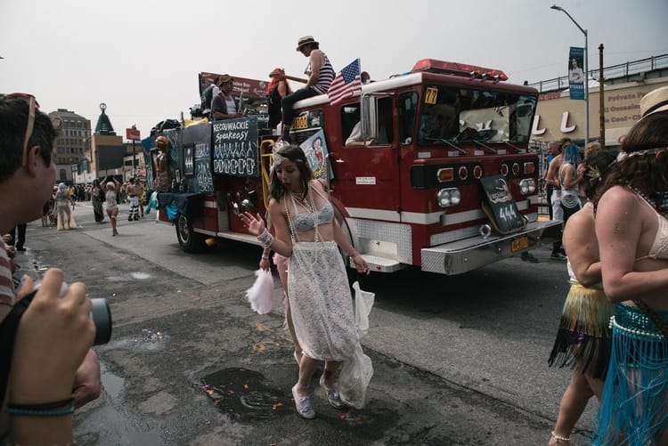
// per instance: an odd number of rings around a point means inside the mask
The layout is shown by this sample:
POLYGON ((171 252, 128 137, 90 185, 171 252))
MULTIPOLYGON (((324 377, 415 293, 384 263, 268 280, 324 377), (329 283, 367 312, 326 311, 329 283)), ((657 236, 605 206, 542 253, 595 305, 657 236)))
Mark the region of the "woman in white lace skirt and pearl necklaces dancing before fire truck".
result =
POLYGON ((322 182, 313 180, 299 147, 283 146, 274 153, 270 193, 269 219, 275 238, 266 230, 261 215, 246 212, 240 218, 264 246, 289 258, 290 310, 302 347, 299 379, 292 387, 297 413, 302 418, 315 418, 309 387, 319 361, 325 361, 320 385, 330 405, 361 409, 373 367, 360 345, 338 247, 351 255, 358 272, 368 273, 369 266, 334 221, 328 192, 322 182))

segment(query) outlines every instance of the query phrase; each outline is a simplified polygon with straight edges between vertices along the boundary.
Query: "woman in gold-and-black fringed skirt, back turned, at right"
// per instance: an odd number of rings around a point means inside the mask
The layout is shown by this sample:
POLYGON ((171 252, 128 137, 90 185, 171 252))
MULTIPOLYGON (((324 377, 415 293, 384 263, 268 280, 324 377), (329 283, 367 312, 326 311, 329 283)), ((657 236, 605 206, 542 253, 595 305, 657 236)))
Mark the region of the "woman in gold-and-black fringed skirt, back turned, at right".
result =
MULTIPOLYGON (((615 162, 616 152, 591 154, 585 166, 585 194, 591 198, 615 162)), ((596 239, 594 207, 588 201, 572 215, 564 228, 566 267, 571 283, 561 313, 557 338, 550 353, 550 366, 571 367, 571 381, 561 397, 557 424, 550 446, 567 445, 571 432, 592 395, 600 401, 610 360, 611 334, 608 323, 615 307, 607 301, 601 283, 599 243, 596 239)))

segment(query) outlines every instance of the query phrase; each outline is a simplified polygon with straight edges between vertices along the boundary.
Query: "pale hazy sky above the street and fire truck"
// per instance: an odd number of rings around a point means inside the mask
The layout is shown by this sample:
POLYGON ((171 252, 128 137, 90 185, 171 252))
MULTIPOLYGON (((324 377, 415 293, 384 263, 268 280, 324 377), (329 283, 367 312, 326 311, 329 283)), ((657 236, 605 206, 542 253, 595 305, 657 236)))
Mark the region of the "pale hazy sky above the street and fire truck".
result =
MULTIPOLYGON (((556 1, 556 0, 555 0, 556 1)), ((360 57, 373 79, 425 58, 502 69, 521 84, 565 76, 584 36, 553 0, 0 0, 0 92, 33 93, 142 137, 199 103, 198 73, 302 77, 313 35, 335 70, 360 57), (394 4, 394 6, 392 5, 394 4)), ((558 0, 589 31, 590 69, 668 53, 666 0, 558 0)), ((298 86, 298 85, 297 85, 298 86)))

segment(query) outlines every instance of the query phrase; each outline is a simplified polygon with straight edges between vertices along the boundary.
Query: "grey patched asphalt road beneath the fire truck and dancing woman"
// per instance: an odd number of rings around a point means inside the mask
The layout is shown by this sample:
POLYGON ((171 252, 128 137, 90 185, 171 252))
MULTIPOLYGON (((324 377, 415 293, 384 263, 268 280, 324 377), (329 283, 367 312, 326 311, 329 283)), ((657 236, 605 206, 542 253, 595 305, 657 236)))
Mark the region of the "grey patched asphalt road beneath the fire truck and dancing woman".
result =
MULTIPOLYGON (((290 401, 297 365, 281 305, 258 315, 244 298, 258 247, 184 255, 153 214, 120 218, 118 237, 87 204, 75 217, 74 231, 30 223, 18 262, 33 274, 59 266, 110 303, 113 336, 95 347, 103 392, 77 410, 77 443, 547 444, 570 375, 547 367, 568 287, 547 247, 534 251, 539 264, 364 277, 376 293, 363 337, 374 365, 367 407, 333 410, 315 377, 318 418, 303 420, 290 401)), ((572 444, 591 442, 596 409, 592 401, 572 444)))

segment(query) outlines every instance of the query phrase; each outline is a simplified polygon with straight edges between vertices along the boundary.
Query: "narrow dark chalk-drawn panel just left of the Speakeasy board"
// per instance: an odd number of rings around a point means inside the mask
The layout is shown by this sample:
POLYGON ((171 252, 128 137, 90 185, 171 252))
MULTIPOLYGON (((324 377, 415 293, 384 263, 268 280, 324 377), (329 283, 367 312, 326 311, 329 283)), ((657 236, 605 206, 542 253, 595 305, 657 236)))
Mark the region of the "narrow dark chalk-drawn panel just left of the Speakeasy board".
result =
POLYGON ((211 173, 211 125, 200 124, 183 129, 183 175, 188 185, 185 190, 214 191, 211 173))

